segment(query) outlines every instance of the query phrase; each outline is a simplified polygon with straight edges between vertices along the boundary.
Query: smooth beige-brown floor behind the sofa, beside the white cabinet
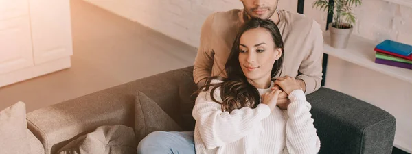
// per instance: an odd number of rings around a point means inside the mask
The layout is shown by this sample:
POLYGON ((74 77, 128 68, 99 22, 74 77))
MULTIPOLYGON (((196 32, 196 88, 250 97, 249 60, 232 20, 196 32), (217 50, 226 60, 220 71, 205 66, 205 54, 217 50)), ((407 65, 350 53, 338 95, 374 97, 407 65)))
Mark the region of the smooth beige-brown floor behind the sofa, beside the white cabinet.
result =
POLYGON ((0 110, 27 112, 167 70, 191 66, 196 49, 157 31, 71 0, 72 67, 0 88, 0 110))

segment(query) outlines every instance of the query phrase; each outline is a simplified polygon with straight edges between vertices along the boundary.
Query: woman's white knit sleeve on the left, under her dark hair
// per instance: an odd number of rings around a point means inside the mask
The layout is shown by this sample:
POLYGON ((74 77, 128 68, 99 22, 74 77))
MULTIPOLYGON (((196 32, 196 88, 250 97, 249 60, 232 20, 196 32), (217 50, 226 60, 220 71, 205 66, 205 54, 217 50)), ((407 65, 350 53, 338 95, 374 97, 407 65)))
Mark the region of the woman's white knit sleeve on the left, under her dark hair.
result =
MULTIPOLYGON (((220 99, 219 89, 214 98, 220 99)), ((243 107, 232 112, 222 112, 220 103, 211 101, 209 92, 201 92, 194 105, 192 115, 196 127, 207 149, 214 149, 235 142, 262 127, 262 119, 268 117, 268 105, 260 104, 252 109, 243 107)))

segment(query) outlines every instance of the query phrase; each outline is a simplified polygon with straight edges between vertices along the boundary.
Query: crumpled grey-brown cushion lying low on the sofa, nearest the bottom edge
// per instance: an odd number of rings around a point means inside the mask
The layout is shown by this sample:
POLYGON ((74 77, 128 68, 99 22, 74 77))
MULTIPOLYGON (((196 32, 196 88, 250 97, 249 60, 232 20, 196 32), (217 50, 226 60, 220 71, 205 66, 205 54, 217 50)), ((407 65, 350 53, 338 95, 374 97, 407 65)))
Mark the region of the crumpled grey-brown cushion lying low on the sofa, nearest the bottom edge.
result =
POLYGON ((101 126, 78 137, 58 154, 135 154, 137 148, 133 128, 125 125, 101 126))

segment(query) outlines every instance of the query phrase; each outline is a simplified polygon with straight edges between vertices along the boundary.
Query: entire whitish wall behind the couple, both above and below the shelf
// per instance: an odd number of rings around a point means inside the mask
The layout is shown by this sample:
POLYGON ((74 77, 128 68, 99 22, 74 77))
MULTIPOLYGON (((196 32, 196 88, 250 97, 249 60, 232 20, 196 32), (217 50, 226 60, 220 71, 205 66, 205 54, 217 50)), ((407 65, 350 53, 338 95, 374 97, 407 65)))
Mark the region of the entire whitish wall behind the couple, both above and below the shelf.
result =
MULTIPOLYGON (((200 29, 212 12, 242 8, 238 0, 85 0, 198 47, 200 29)), ((304 14, 325 29, 326 12, 306 0, 304 14)), ((279 8, 296 12, 297 0, 279 0, 279 8)), ((365 0, 356 8, 354 34, 376 43, 391 39, 412 44, 412 8, 382 0, 365 0)), ((330 57, 326 86, 387 110, 397 120, 395 144, 412 151, 412 84, 330 57), (366 75, 366 77, 361 77, 366 75)))

